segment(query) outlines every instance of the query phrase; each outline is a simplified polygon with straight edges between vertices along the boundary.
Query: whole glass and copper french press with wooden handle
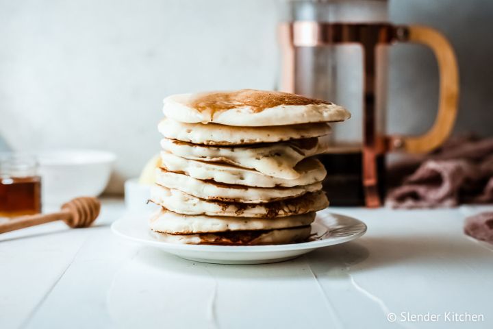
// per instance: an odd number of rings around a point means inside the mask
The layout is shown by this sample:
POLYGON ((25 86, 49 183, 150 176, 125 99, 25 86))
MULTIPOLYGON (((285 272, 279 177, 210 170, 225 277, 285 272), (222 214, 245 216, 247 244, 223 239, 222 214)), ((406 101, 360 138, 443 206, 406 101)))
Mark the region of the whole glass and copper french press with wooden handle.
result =
POLYGON ((435 29, 388 23, 383 0, 290 1, 279 25, 281 91, 327 99, 352 117, 332 125, 325 191, 333 205, 381 206, 385 154, 425 153, 453 128, 459 95, 455 54, 435 29), (414 42, 433 50, 440 73, 438 114, 420 136, 385 132, 388 46, 414 42))

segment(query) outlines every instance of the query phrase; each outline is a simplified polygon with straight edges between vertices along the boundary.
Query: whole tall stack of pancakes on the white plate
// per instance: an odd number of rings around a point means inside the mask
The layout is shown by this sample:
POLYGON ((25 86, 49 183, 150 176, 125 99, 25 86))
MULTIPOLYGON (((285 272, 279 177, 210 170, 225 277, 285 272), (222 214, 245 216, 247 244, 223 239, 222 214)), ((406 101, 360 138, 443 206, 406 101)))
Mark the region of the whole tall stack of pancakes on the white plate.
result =
POLYGON ((344 108, 262 90, 173 95, 159 124, 162 165, 149 222, 175 243, 261 245, 305 241, 315 212, 329 205, 327 122, 344 108))

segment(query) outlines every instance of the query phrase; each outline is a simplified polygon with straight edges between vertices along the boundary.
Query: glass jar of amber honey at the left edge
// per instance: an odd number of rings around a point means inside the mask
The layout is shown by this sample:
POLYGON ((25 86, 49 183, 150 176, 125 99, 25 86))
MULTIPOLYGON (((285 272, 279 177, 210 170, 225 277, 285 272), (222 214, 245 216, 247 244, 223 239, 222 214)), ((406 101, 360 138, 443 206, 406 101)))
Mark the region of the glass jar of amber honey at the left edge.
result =
POLYGON ((34 156, 0 156, 0 217, 41 212, 41 179, 34 156))

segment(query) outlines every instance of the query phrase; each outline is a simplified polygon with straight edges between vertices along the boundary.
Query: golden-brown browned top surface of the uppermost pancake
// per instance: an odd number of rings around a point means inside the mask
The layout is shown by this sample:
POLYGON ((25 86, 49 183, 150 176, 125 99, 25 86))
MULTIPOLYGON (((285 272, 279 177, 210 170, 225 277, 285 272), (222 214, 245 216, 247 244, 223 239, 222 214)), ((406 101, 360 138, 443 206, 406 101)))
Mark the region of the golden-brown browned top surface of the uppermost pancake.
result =
POLYGON ((331 104, 321 99, 313 99, 301 95, 281 93, 278 91, 264 91, 242 89, 230 92, 201 93, 190 100, 188 106, 199 112, 219 112, 232 108, 249 107, 252 112, 262 112, 266 108, 276 106, 303 106, 309 104, 331 104))

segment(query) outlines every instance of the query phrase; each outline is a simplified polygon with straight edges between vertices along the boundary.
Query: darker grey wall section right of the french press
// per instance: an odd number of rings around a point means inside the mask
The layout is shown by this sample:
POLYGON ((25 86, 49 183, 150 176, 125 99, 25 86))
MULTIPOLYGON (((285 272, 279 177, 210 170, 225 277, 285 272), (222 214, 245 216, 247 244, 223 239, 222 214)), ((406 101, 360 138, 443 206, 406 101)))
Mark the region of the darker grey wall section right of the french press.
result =
MULTIPOLYGON (((493 135, 493 1, 391 0, 396 23, 440 30, 459 61, 461 93, 455 132, 493 135)), ((424 132, 438 103, 438 68, 425 47, 396 45, 390 58, 389 130, 424 132)))

